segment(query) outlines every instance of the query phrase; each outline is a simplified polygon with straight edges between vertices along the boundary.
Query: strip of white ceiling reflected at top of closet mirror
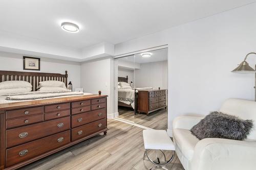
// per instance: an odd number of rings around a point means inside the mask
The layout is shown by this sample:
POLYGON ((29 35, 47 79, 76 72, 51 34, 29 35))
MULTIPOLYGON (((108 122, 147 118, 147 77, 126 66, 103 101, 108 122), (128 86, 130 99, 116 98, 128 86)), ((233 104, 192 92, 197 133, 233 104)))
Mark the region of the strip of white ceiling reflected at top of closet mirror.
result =
POLYGON ((163 49, 151 51, 148 53, 152 54, 151 57, 145 58, 145 57, 142 57, 141 54, 135 54, 132 56, 119 58, 118 60, 143 64, 143 63, 152 63, 152 62, 158 62, 158 61, 166 61, 168 59, 168 48, 163 48, 163 49))

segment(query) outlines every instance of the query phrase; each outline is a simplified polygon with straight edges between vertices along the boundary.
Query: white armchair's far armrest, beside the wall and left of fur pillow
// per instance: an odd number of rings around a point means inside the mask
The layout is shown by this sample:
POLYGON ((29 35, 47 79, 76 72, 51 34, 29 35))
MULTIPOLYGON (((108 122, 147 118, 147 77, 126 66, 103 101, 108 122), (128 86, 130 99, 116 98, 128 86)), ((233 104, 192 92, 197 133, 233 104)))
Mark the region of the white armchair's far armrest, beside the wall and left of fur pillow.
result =
POLYGON ((198 124, 204 116, 179 116, 173 120, 173 129, 190 130, 194 125, 198 124))

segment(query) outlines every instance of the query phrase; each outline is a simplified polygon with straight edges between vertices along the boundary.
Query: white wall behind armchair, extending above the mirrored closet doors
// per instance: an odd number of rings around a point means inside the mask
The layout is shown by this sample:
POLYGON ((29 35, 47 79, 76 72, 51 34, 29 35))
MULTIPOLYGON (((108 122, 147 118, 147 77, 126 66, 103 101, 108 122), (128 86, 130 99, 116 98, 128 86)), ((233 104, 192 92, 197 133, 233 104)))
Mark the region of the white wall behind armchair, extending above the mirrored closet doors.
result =
MULTIPOLYGON (((168 132, 179 115, 208 114, 227 98, 253 100, 254 75, 230 72, 256 51, 256 3, 115 46, 115 55, 168 44, 168 132)), ((256 63, 255 56, 248 62, 256 63)))

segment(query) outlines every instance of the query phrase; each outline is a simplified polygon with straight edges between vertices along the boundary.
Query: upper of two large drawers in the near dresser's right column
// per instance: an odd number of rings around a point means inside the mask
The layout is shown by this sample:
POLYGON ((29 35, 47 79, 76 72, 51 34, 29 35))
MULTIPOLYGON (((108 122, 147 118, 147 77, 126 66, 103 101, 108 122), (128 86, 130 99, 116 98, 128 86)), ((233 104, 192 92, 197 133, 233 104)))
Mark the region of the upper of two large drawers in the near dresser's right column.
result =
POLYGON ((86 113, 73 115, 71 118, 72 128, 94 122, 106 117, 106 109, 98 109, 86 113))

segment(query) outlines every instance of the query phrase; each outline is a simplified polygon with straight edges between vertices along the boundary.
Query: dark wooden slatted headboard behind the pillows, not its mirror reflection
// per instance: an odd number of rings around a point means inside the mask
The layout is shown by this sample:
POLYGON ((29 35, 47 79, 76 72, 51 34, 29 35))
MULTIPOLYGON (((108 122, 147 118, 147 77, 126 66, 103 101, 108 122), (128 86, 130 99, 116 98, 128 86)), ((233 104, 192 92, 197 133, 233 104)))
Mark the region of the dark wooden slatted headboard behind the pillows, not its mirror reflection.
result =
POLYGON ((46 72, 23 72, 23 71, 1 71, 0 70, 0 82, 20 80, 31 83, 32 91, 36 91, 39 82, 48 80, 57 80, 64 82, 68 87, 68 71, 65 71, 65 75, 46 72))

